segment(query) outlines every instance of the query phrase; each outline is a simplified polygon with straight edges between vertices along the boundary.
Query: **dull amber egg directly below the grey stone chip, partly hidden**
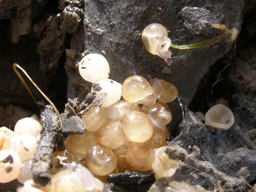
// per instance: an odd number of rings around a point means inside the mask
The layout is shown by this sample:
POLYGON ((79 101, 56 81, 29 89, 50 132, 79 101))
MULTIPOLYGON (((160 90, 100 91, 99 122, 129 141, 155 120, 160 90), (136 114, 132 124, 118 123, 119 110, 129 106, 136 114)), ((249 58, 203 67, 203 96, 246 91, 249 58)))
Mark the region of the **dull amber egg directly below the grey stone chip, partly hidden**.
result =
POLYGON ((81 135, 71 135, 70 145, 79 153, 86 153, 89 145, 96 145, 95 132, 86 131, 81 135))

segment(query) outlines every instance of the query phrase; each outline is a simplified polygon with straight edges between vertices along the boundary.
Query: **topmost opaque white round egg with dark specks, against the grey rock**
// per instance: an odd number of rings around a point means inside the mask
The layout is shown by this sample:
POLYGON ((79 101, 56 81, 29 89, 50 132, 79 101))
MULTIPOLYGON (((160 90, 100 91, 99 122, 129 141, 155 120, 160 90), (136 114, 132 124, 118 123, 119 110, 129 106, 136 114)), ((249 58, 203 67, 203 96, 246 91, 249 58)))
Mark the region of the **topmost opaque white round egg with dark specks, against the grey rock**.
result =
POLYGON ((109 77, 109 64, 104 56, 92 53, 86 55, 79 62, 79 73, 83 79, 95 83, 100 79, 109 77))

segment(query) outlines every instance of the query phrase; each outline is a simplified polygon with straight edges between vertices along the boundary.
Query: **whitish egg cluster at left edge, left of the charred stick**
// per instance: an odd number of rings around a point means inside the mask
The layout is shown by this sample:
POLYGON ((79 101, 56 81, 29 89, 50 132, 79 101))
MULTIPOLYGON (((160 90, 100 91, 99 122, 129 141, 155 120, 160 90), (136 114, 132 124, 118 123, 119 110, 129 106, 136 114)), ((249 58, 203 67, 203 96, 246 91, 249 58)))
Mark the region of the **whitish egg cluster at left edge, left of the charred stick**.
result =
POLYGON ((41 122, 34 118, 20 119, 14 131, 0 128, 0 183, 18 179, 20 183, 32 178, 31 159, 41 134, 41 122))

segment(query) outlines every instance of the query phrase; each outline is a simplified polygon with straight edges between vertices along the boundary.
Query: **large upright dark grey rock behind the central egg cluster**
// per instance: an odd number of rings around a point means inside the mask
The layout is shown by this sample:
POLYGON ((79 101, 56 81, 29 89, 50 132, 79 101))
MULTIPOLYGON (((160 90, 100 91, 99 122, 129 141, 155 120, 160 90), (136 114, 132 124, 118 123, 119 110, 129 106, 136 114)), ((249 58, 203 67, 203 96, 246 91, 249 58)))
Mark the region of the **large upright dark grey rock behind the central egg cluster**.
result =
MULTIPOLYGON (((205 20, 210 23, 217 21, 229 29, 237 28, 240 31, 243 7, 243 1, 232 1, 232 4, 229 1, 201 0, 86 1, 83 25, 72 36, 70 49, 66 50, 67 97, 85 98, 91 84, 80 77, 77 64, 88 53, 100 53, 110 64, 110 79, 123 83, 131 75, 147 77, 150 74, 152 78, 157 77, 175 85, 179 97, 188 105, 203 75, 218 58, 230 50, 232 42, 227 39, 214 46, 191 50, 171 48, 173 63, 167 66, 163 59, 152 55, 143 47, 143 29, 151 23, 161 23, 170 31, 169 37, 174 44, 197 43, 209 39, 209 36, 201 35, 196 23, 190 23, 190 28, 194 31, 189 33, 185 27, 188 22, 182 20, 182 10, 184 17, 186 13, 192 20, 197 21, 198 15, 203 13, 205 20), (184 7, 187 8, 183 9, 184 7), (76 54, 71 54, 75 50, 76 54), (171 70, 170 74, 162 73, 165 67, 171 70)), ((219 33, 212 28, 209 31, 209 35, 219 33)), ((207 33, 204 35, 208 35, 207 33)), ((170 127, 174 127, 182 117, 179 104, 178 100, 169 104, 173 114, 170 127)))

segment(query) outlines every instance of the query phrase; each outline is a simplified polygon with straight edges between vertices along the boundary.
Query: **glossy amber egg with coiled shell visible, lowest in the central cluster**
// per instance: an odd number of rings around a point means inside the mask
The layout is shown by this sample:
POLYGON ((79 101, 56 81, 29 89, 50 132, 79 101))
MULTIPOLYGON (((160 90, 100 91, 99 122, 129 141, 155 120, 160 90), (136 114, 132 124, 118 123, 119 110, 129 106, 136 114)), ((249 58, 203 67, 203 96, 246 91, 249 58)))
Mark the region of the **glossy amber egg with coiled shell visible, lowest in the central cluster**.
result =
POLYGON ((108 175, 116 168, 116 155, 100 145, 91 145, 86 151, 86 165, 95 175, 108 175))

